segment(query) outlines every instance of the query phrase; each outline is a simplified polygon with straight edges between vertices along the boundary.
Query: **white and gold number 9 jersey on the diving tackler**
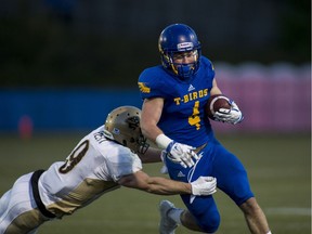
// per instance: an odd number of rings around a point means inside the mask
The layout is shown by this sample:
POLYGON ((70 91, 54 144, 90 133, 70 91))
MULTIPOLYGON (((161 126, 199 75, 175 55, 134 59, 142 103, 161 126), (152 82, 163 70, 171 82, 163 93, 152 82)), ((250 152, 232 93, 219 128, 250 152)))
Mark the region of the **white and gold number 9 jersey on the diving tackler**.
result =
POLYGON ((54 162, 40 177, 42 203, 57 217, 70 214, 119 187, 118 179, 142 169, 138 155, 107 140, 103 130, 101 126, 86 135, 65 161, 54 162))

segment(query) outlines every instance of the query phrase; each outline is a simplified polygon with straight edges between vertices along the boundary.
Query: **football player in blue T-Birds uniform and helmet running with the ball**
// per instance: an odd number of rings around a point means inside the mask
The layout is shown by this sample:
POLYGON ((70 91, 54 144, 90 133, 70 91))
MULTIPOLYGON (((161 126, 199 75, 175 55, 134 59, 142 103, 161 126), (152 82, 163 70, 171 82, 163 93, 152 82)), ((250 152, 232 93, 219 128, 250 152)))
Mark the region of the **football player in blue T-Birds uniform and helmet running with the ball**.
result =
MULTIPOLYGON (((161 65, 146 68, 139 77, 144 100, 143 134, 167 152, 164 162, 171 179, 192 182, 200 176, 217 178, 218 187, 240 208, 251 233, 271 233, 238 158, 213 135, 205 104, 221 94, 211 62, 202 55, 195 31, 184 24, 166 27, 159 37, 161 65)), ((231 101, 231 109, 220 109, 214 120, 238 123, 243 114, 231 101)), ((159 205, 159 233, 172 234, 179 224, 213 233, 220 214, 212 195, 181 195, 187 209, 176 208, 169 200, 159 205)))

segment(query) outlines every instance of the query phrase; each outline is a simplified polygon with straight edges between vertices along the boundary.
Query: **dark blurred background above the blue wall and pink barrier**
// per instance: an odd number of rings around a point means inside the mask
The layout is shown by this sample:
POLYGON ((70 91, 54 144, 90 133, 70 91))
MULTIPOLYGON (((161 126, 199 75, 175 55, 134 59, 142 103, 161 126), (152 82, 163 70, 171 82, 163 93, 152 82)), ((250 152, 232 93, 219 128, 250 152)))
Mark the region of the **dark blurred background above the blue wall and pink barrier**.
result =
POLYGON ((0 87, 135 88, 169 24, 213 63, 311 61, 311 1, 0 0, 0 87))

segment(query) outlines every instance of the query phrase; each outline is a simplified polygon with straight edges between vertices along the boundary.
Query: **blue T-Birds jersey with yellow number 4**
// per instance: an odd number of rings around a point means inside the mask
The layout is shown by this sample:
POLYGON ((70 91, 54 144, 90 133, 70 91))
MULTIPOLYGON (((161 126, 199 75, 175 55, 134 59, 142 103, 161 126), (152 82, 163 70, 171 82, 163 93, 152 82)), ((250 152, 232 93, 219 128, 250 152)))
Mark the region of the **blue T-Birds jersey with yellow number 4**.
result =
POLYGON ((190 81, 182 81, 161 65, 143 70, 139 77, 142 99, 164 98, 158 127, 170 139, 198 147, 209 141, 212 130, 204 107, 210 96, 214 69, 200 57, 200 66, 190 81))

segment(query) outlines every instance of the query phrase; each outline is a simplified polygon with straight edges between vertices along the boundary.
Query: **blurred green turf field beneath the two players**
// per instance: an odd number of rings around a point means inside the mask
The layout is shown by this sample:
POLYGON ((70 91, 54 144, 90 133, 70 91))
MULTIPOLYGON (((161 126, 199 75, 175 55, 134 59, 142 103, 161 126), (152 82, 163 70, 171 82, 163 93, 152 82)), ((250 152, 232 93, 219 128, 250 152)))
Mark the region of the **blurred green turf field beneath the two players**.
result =
MULTIPOLYGON (((0 135, 0 195, 18 176, 63 160, 84 133, 36 135, 29 141, 0 135)), ((310 135, 220 135, 219 139, 244 162, 272 233, 310 234, 310 135)), ((146 165, 145 171, 159 176, 159 168, 160 164, 146 165)), ((222 192, 214 197, 221 213, 218 233, 248 233, 240 210, 222 192)), ((157 233, 157 205, 164 198, 183 207, 179 196, 165 197, 122 187, 72 217, 43 224, 39 233, 157 233)), ((177 234, 195 232, 177 230, 177 234)))

